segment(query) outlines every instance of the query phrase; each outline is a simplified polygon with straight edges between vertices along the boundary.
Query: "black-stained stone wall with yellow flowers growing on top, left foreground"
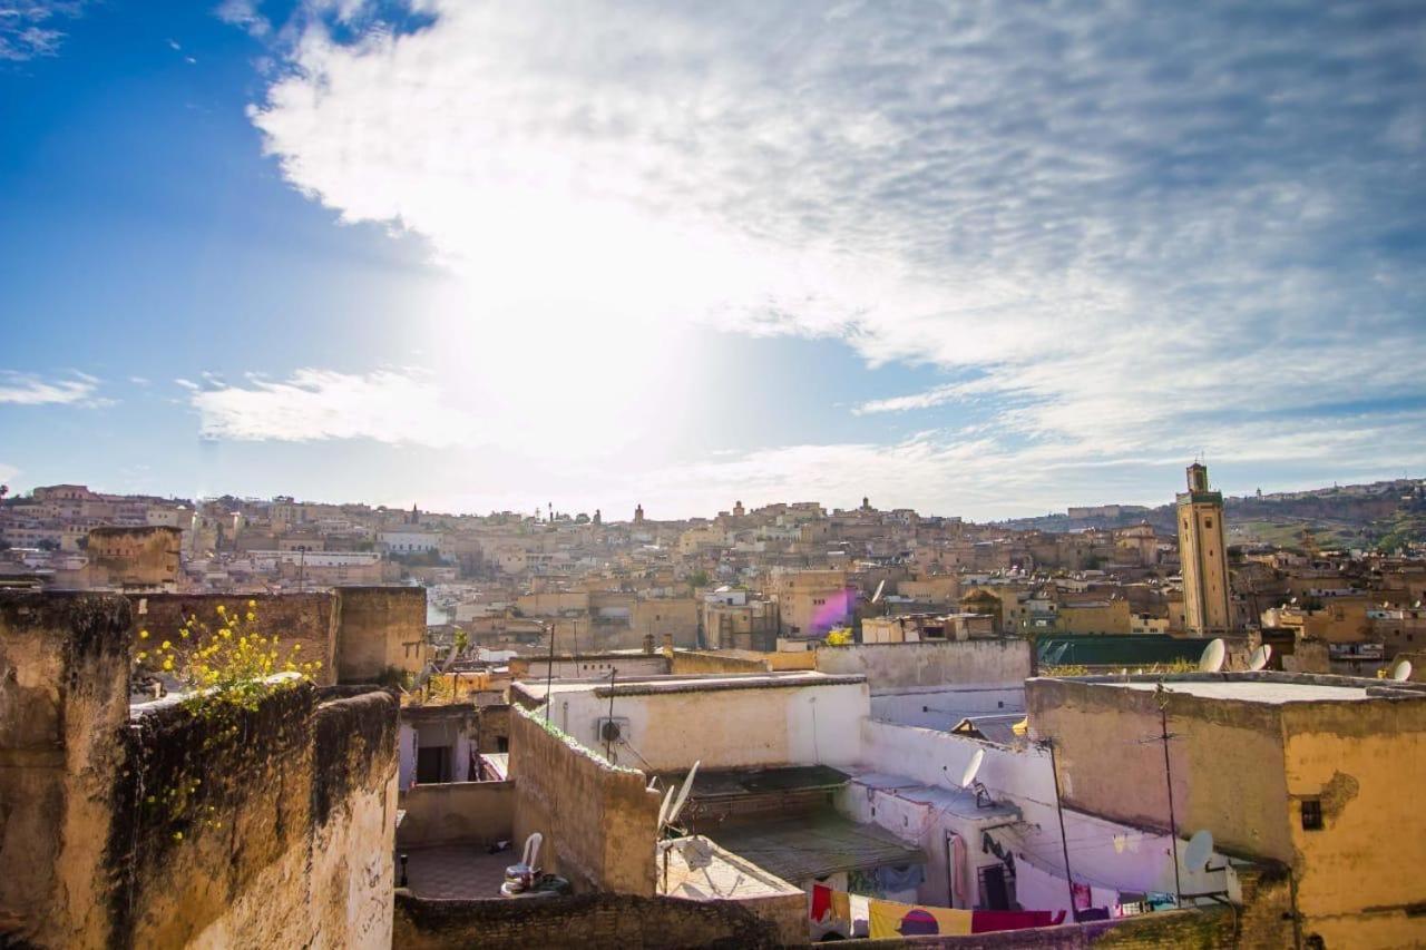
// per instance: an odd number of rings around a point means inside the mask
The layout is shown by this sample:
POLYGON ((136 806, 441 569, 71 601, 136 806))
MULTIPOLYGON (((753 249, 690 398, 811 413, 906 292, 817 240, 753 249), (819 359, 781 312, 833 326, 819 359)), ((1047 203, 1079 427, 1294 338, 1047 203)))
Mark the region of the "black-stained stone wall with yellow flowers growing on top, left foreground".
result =
POLYGON ((0 943, 385 947, 396 702, 130 709, 130 603, 0 593, 0 943))

